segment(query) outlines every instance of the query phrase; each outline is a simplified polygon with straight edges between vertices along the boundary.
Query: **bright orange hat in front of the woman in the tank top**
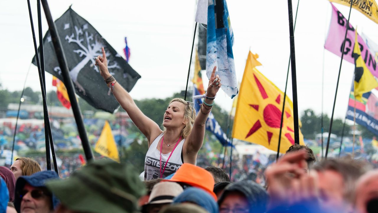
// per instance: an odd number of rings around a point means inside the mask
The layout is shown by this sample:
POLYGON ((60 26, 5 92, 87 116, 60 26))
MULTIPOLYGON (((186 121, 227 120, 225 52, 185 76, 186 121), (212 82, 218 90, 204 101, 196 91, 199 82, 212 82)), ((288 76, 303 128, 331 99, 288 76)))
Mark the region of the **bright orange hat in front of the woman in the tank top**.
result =
POLYGON ((211 194, 215 201, 218 200, 217 196, 213 192, 214 177, 212 174, 193 164, 183 163, 171 179, 162 181, 181 182, 201 188, 211 194))

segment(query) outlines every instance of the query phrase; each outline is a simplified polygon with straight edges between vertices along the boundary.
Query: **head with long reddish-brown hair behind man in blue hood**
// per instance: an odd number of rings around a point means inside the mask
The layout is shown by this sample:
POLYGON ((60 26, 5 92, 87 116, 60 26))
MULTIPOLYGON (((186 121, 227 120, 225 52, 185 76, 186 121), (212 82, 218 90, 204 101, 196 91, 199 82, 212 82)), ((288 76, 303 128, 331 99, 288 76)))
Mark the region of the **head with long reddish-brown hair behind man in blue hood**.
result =
POLYGON ((17 158, 11 166, 16 180, 22 175, 32 175, 41 171, 38 162, 31 158, 17 158))

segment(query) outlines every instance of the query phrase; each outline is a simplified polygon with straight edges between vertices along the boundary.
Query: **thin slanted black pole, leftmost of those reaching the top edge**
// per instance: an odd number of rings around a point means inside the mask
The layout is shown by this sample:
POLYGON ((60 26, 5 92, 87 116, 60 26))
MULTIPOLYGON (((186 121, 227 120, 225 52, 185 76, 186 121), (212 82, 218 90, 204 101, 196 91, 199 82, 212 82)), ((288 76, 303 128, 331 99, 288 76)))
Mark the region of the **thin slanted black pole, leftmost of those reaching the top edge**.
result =
MULTIPOLYGON (((48 131, 48 133, 51 134, 50 119, 48 117, 48 110, 47 110, 47 103, 46 103, 46 93, 45 93, 45 89, 44 89, 45 86, 44 86, 43 80, 42 80, 42 70, 41 70, 41 65, 40 65, 40 60, 39 60, 39 55, 38 55, 38 49, 37 49, 36 33, 34 32, 34 24, 33 24, 33 16, 31 14, 30 0, 28 0, 28 9, 29 9, 31 33, 33 35, 34 52, 36 53, 39 82, 40 82, 41 92, 42 92, 43 115, 44 115, 44 118, 45 118, 45 122, 47 123, 47 129, 46 130, 48 131)), ((46 132, 46 130, 45 130, 45 132, 46 132)), ((45 138, 45 140, 47 140, 47 138, 45 138)), ((50 156, 48 158, 50 158, 50 156)), ((47 161, 47 159, 46 159, 46 161, 47 161)), ((50 167, 50 169, 51 169, 51 167, 50 167)), ((57 167, 55 168, 55 171, 59 175, 57 167)))

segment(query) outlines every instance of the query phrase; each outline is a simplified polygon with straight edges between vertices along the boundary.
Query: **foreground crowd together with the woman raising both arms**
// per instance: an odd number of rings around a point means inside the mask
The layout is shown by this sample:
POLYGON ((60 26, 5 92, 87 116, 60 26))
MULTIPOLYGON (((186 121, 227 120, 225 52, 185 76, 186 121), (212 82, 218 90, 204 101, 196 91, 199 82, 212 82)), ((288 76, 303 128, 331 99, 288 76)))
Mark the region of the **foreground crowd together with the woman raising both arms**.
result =
POLYGON ((377 169, 351 157, 316 162, 304 145, 294 144, 276 162, 266 159, 273 162, 266 168, 254 158, 237 159, 242 168, 231 173, 239 180, 206 161, 199 163, 205 168, 197 166, 204 124, 222 85, 216 67, 200 112, 173 99, 161 130, 110 75, 104 49, 95 59, 109 92, 147 138, 144 171, 102 158, 62 179, 31 158, 17 158, 0 167, 0 213, 378 212, 377 169))

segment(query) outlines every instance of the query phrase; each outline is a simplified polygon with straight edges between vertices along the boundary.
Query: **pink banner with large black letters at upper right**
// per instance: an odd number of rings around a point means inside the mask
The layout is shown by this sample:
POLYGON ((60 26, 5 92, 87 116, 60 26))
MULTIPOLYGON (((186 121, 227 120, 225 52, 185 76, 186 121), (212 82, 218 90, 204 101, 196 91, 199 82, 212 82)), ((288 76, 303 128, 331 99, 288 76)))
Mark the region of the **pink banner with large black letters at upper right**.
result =
MULTIPOLYGON (((332 4, 331 4, 332 5, 332 4)), ((345 30, 347 19, 338 11, 338 9, 332 5, 332 18, 330 28, 328 30, 327 40, 325 41, 324 48, 330 52, 341 56, 342 43, 344 42, 345 30)), ((378 66, 375 60, 375 55, 370 51, 361 36, 357 36, 359 48, 361 50, 361 56, 366 64, 366 67, 370 72, 378 77, 378 66)), ((347 39, 344 48, 344 60, 350 63, 355 63, 353 58, 353 47, 355 44, 355 28, 349 22, 349 28, 347 33, 347 39)))

